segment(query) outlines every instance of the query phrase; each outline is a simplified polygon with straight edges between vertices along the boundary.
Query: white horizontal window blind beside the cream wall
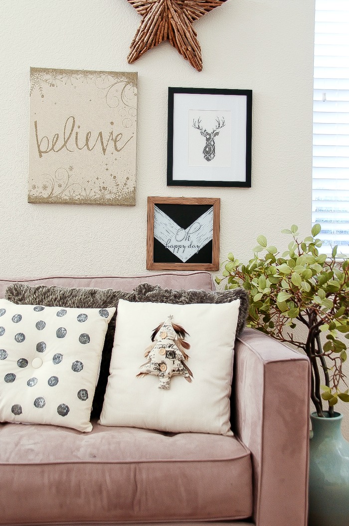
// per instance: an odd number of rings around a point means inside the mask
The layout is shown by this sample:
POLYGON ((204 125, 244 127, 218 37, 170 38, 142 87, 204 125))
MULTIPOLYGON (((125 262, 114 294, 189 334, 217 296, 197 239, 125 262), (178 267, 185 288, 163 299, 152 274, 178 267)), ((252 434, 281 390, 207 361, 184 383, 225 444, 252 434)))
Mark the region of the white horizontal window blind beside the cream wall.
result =
POLYGON ((349 0, 315 1, 312 224, 349 254, 349 0))

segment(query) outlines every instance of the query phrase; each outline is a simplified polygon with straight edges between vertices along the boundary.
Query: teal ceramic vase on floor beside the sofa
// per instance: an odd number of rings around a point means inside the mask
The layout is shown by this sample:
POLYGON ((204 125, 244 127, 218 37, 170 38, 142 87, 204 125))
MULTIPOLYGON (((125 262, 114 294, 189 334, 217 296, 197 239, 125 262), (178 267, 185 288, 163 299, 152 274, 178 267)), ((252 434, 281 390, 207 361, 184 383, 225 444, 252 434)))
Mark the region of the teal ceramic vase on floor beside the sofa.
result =
POLYGON ((343 415, 311 413, 309 526, 349 525, 349 442, 341 432, 343 415))

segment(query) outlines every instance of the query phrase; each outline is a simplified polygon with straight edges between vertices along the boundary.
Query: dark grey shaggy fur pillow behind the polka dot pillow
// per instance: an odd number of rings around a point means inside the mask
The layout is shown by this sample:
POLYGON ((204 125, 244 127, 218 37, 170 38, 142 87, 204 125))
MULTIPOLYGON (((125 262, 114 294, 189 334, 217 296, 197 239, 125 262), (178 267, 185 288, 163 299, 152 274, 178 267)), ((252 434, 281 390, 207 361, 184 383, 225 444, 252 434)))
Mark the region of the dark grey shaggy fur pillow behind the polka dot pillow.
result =
MULTIPOLYGON (((134 292, 113 289, 47 287, 45 285, 29 286, 22 283, 9 285, 5 299, 17 305, 42 305, 44 307, 67 308, 110 308, 116 307, 120 298, 134 301, 134 292)), ((106 392, 111 350, 114 343, 115 315, 109 322, 102 351, 99 379, 92 405, 91 418, 99 418, 106 392)))

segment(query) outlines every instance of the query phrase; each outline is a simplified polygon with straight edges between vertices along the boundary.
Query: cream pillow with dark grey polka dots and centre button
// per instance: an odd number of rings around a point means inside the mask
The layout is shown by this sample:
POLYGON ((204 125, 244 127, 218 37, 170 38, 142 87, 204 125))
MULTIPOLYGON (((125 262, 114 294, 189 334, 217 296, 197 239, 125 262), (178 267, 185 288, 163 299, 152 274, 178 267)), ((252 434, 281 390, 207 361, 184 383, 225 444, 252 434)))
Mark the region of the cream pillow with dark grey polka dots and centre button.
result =
POLYGON ((0 421, 91 431, 109 309, 0 299, 0 421))

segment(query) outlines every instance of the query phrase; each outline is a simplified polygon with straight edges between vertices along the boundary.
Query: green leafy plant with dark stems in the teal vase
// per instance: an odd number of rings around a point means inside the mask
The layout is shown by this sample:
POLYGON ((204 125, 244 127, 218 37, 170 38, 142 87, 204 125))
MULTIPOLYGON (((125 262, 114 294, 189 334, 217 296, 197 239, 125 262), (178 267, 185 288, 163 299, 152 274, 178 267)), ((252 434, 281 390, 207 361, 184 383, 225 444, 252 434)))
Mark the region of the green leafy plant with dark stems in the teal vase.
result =
MULTIPOLYGON (((289 343, 305 352, 311 361, 311 399, 323 417, 323 402, 330 416, 339 400, 349 402, 343 363, 349 343, 349 260, 319 254, 321 231, 314 225, 311 236, 299 240, 296 225, 283 234, 292 237, 288 250, 279 254, 264 236, 247 265, 230 252, 222 275, 215 277, 225 289, 243 287, 250 293, 247 325, 289 343), (343 260, 344 259, 344 260, 343 260), (305 336, 298 325, 305 327, 305 336), (295 330, 297 329, 297 330, 295 330), (346 388, 346 389, 345 389, 346 388)), ((304 331, 303 331, 304 332, 304 331)))

